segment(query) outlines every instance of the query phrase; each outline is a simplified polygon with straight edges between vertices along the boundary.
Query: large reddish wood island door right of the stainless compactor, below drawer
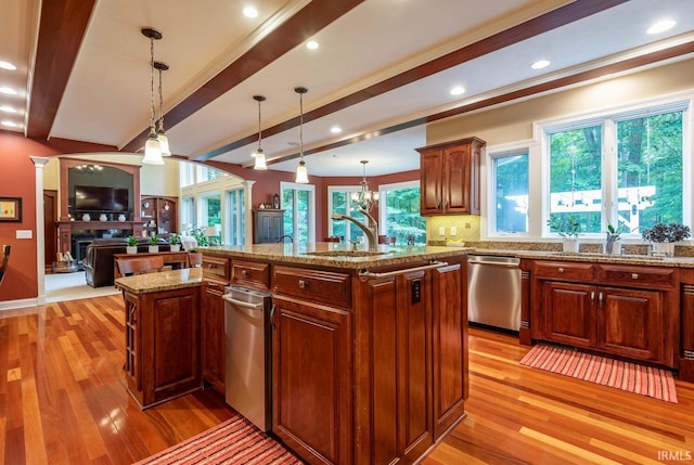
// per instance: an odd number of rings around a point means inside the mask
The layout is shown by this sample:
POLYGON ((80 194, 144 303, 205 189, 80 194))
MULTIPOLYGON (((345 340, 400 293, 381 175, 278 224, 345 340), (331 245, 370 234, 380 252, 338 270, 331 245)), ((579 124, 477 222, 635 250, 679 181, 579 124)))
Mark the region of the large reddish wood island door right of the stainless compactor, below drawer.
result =
POLYGON ((273 302, 272 430, 310 463, 352 463, 350 314, 273 302))

